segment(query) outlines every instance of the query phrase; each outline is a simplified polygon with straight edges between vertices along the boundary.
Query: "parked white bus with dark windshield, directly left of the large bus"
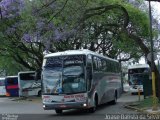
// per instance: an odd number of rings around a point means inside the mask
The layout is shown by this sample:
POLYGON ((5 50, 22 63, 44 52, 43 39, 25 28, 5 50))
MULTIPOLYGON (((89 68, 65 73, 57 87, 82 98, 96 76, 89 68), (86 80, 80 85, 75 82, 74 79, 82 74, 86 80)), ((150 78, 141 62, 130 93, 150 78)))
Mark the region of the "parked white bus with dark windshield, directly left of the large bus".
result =
POLYGON ((41 80, 35 80, 35 71, 23 71, 18 73, 19 96, 41 96, 41 80))

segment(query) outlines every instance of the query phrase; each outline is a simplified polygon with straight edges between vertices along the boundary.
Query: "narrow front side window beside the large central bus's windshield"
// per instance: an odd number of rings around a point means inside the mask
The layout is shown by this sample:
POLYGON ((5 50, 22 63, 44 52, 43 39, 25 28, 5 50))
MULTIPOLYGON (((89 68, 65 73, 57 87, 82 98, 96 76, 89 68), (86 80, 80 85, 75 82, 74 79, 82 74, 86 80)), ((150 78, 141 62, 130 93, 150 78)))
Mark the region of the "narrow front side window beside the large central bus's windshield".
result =
POLYGON ((88 90, 91 89, 91 83, 92 83, 92 57, 91 55, 87 56, 87 67, 86 67, 86 76, 87 76, 87 88, 88 90))

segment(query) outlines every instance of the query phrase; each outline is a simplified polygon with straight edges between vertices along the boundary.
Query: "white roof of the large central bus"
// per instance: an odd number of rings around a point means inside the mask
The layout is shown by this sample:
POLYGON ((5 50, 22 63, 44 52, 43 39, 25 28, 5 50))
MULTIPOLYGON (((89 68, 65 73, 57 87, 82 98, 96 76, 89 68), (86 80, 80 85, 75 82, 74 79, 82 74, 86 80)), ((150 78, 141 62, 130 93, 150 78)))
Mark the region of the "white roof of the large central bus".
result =
POLYGON ((103 56, 101 54, 98 54, 96 52, 90 51, 88 49, 81 49, 81 50, 67 50, 67 51, 63 51, 63 52, 56 52, 56 53, 50 53, 44 56, 44 58, 48 58, 48 57, 53 57, 53 56, 63 56, 63 55, 88 55, 88 54, 92 54, 95 56, 99 56, 99 57, 103 57, 105 59, 109 59, 115 62, 118 62, 115 59, 103 56))

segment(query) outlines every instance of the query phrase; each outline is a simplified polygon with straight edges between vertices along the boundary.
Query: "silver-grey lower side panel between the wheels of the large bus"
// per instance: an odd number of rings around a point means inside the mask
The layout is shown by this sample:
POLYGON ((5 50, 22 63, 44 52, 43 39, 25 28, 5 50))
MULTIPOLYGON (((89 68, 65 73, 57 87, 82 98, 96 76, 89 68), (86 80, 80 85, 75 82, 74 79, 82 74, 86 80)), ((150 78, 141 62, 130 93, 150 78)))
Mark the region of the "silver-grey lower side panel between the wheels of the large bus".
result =
POLYGON ((93 74, 92 86, 92 93, 90 94, 92 94, 92 99, 94 99, 93 91, 97 92, 99 104, 114 100, 115 91, 117 91, 117 98, 122 93, 121 77, 119 74, 95 72, 93 74))

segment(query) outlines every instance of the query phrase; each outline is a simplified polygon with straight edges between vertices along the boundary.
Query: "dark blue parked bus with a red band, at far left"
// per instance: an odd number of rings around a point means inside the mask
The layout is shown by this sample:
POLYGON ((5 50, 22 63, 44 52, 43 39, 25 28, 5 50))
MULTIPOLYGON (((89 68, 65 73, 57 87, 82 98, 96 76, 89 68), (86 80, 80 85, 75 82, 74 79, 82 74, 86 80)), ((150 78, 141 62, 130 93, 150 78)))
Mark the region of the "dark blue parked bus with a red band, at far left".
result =
POLYGON ((18 77, 7 76, 5 78, 5 88, 6 88, 6 96, 18 97, 19 96, 18 77))

